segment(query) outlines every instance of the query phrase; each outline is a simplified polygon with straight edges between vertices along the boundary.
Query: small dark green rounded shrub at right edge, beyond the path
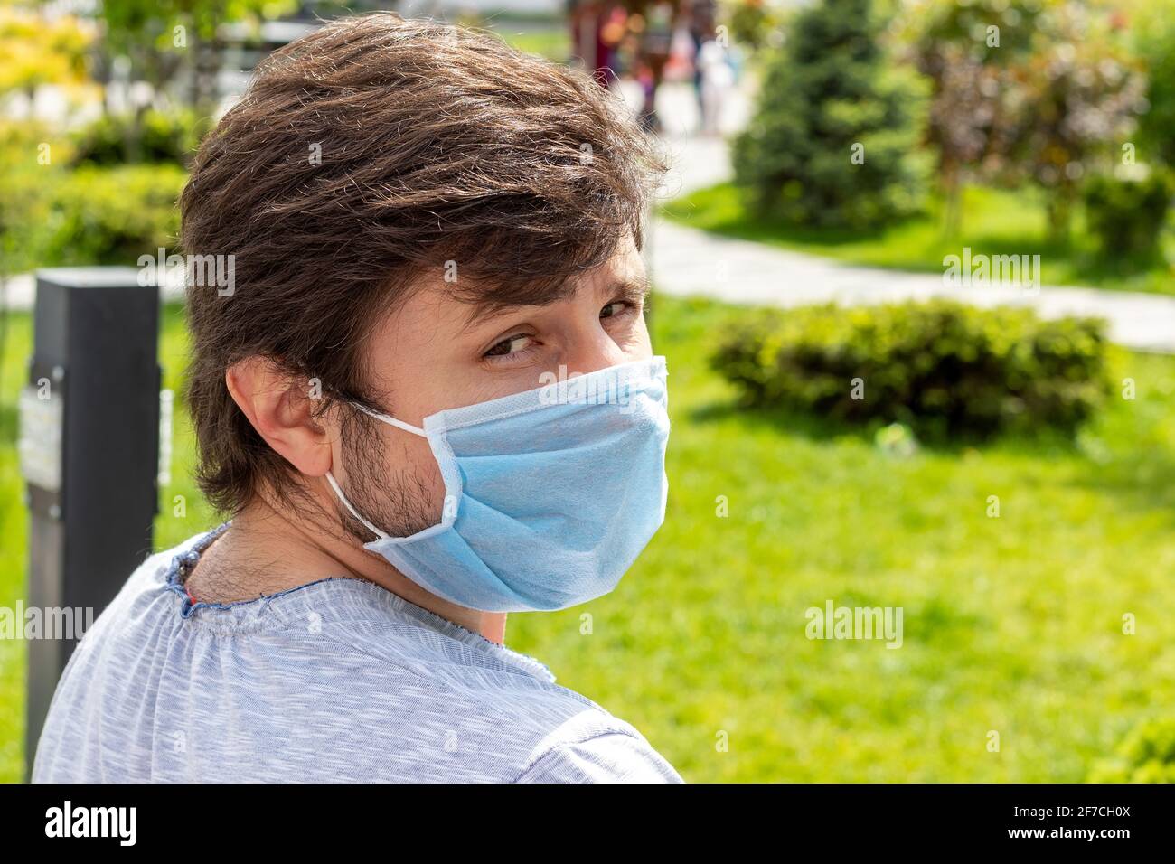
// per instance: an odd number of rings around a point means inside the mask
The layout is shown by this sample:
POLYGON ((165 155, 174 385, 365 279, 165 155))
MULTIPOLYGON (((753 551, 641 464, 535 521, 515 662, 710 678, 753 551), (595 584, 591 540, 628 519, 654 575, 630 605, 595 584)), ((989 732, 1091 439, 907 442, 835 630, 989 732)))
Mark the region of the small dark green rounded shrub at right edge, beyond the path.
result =
POLYGON ((1103 256, 1155 257, 1171 199, 1164 172, 1093 176, 1086 183, 1085 199, 1086 221, 1103 256))

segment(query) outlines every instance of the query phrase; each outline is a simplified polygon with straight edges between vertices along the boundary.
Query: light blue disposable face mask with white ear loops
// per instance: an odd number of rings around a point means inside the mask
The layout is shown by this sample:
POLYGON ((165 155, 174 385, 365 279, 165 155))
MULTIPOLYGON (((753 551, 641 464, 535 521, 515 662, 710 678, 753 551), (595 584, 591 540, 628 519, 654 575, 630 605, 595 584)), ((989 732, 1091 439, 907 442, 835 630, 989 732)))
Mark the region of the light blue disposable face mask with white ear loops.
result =
POLYGON ((423 429, 367 411, 428 438, 441 467, 441 522, 408 537, 327 480, 378 537, 363 548, 432 594, 483 611, 566 609, 611 591, 665 520, 666 406, 657 356, 439 411, 423 429))

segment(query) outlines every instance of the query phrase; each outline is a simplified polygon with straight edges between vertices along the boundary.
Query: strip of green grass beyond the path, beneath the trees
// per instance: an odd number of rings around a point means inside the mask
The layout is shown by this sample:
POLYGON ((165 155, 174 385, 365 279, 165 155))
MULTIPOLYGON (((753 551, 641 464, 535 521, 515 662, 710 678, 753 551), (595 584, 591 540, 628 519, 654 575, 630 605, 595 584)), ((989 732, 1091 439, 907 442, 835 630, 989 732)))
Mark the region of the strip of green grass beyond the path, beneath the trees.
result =
MULTIPOLYGON (((1032 190, 967 188, 959 236, 944 234, 936 205, 925 216, 872 233, 797 228, 778 220, 756 219, 747 213, 739 189, 732 183, 671 201, 662 213, 694 228, 853 264, 942 273, 944 256, 961 255, 964 247, 971 247, 973 254, 1040 255, 1045 284, 1175 294, 1175 268, 1170 264, 1103 261, 1080 212, 1075 214, 1068 246, 1047 242, 1043 203, 1032 190)), ((1175 257, 1170 230, 1164 241, 1170 260, 1175 257)))

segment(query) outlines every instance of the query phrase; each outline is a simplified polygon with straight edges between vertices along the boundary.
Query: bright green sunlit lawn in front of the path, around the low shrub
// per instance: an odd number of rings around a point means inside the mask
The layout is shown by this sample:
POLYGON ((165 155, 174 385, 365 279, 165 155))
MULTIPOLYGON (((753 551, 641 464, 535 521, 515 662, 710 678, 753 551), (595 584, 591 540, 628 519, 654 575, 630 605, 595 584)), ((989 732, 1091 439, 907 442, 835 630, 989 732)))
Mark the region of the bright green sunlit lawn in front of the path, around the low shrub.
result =
MULTIPOLYGON (((666 522, 611 595, 511 616, 512 648, 633 723, 687 781, 1081 781, 1175 698, 1175 357, 1116 353, 1115 400, 1076 444, 1005 440, 895 460, 819 418, 734 408, 706 351, 739 310, 658 297, 669 357, 666 522), (1001 516, 988 518, 987 496, 1001 516), (716 515, 726 496, 728 516, 716 515), (808 641, 808 607, 905 610, 905 644, 808 641), (1137 635, 1121 634, 1121 616, 1137 635), (584 635, 585 614, 591 635, 584 635), (988 752, 996 730, 1000 752, 988 752), (728 751, 716 749, 725 734, 728 751)), ((0 605, 24 594, 13 406, 0 375, 0 605)), ((162 356, 175 387, 182 321, 162 356)), ((176 403, 157 545, 214 523, 176 403), (172 515, 174 495, 187 518, 172 515)), ((24 643, 0 642, 0 779, 20 777, 24 643)))

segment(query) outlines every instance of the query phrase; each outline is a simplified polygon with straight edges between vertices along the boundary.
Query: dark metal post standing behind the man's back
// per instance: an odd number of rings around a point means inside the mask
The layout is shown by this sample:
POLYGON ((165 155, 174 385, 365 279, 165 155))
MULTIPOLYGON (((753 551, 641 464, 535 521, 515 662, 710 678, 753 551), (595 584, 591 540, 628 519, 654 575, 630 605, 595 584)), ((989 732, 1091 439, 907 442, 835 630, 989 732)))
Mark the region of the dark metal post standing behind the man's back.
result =
MULTIPOLYGON (((96 618, 152 549, 159 473, 159 288, 130 267, 36 274, 21 395, 28 481, 28 608, 96 618)), ((76 618, 75 618, 76 621, 76 618)), ((80 638, 27 641, 25 763, 80 638)))

